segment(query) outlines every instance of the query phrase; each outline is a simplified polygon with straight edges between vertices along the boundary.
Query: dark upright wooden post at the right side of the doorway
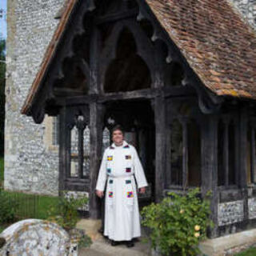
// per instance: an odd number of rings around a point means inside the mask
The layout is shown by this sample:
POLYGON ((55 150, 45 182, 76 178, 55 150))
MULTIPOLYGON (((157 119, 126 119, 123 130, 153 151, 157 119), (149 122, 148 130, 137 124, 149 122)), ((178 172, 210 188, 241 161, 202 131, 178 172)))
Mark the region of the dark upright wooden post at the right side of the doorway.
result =
POLYGON ((165 98, 154 98, 155 120, 155 201, 160 202, 165 188, 166 167, 166 103, 165 98))

